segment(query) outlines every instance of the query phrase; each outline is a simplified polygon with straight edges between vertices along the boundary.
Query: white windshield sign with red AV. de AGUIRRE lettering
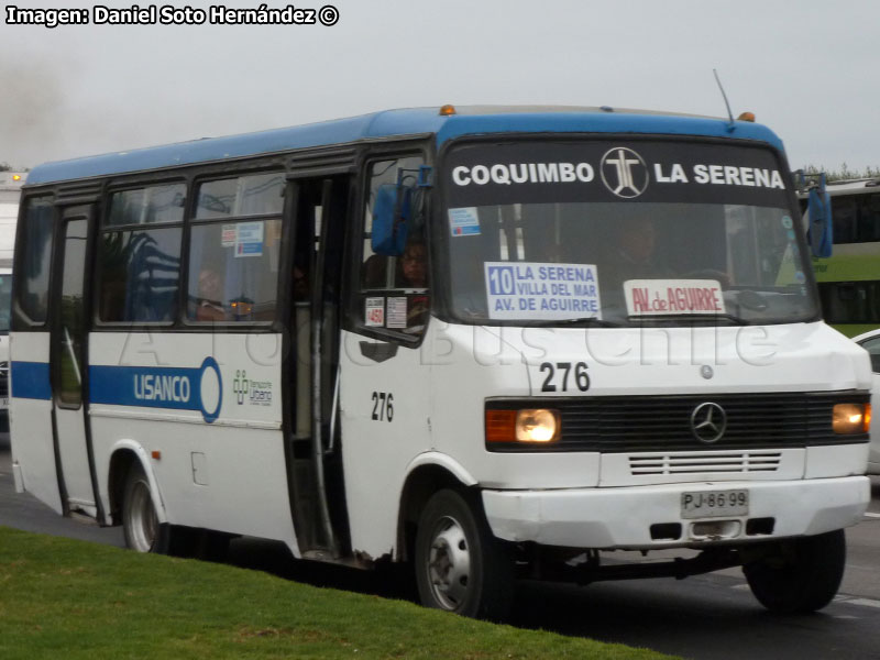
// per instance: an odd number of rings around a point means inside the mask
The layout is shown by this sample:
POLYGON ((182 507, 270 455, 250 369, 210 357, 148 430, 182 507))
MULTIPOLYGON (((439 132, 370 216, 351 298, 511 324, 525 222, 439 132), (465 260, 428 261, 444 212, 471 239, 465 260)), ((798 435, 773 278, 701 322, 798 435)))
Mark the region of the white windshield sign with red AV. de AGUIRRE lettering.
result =
POLYGON ((725 314, 717 279, 627 279, 624 295, 629 316, 725 314))

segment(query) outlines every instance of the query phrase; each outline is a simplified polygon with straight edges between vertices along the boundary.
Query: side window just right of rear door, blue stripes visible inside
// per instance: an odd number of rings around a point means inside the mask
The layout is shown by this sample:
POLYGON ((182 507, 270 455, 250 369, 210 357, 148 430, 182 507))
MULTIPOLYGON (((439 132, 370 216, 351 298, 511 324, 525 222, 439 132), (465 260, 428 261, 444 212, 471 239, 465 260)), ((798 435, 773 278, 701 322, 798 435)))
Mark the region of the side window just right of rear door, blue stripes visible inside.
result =
POLYGON ((101 321, 170 323, 177 316, 186 186, 113 193, 101 227, 101 321))

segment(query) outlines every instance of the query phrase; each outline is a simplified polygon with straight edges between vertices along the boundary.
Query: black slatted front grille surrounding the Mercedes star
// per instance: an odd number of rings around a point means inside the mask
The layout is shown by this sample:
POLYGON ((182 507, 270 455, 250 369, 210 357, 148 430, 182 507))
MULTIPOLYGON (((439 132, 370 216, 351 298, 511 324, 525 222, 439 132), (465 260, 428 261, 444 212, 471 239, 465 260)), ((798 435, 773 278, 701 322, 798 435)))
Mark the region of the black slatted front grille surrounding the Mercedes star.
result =
MULTIPOLYGON (((488 409, 554 408, 560 441, 540 451, 750 450, 868 442, 867 433, 832 430, 835 404, 867 404, 860 393, 719 394, 688 396, 594 396, 541 399, 488 399, 488 409), (704 403, 724 408, 727 428, 715 442, 696 439, 691 415, 704 403)), ((493 442, 491 451, 536 451, 516 442, 493 442)))

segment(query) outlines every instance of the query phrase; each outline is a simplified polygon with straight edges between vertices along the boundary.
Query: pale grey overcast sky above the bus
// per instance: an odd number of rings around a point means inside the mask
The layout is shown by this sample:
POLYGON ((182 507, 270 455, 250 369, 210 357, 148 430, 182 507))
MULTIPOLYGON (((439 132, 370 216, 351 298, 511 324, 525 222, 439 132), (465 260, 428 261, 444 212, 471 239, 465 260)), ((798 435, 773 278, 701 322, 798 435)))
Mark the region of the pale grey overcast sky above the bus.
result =
MULTIPOLYGON (((54 30, 9 25, 6 8, 94 4, 6 2, 0 163, 32 167, 448 102, 724 116, 712 74, 717 68, 734 114, 752 111, 773 129, 793 168, 880 165, 875 0, 330 1, 340 13, 332 28, 54 30)), ((187 3, 211 4, 167 4, 187 3)))

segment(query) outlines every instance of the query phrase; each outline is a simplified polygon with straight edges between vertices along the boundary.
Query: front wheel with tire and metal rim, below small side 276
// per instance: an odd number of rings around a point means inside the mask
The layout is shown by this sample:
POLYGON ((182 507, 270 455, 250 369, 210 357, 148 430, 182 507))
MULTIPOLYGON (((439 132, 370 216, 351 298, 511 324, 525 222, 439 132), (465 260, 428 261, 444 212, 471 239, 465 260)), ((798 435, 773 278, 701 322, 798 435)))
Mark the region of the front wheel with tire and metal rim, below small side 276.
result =
POLYGON ((416 534, 416 583, 426 607, 503 620, 513 593, 509 549, 488 528, 479 504, 440 491, 426 505, 416 534))

